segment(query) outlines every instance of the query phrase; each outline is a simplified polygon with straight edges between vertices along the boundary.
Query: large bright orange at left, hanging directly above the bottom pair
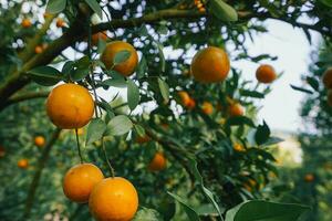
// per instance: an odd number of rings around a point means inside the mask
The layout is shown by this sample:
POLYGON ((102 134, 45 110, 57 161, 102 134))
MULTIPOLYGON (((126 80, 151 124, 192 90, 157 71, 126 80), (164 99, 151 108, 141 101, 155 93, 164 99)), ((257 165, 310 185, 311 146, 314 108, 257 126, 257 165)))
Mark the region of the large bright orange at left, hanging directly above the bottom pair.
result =
POLYGON ((94 110, 89 91, 77 84, 62 84, 52 90, 46 101, 46 112, 54 125, 63 129, 86 125, 94 110))

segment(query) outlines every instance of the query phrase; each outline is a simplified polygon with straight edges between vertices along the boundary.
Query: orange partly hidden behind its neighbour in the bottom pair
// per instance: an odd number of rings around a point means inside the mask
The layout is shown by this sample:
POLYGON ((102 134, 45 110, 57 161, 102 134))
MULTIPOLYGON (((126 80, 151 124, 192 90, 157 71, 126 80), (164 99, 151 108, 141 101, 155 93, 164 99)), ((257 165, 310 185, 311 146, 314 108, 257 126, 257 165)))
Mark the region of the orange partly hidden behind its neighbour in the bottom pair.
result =
POLYGON ((92 164, 81 164, 68 170, 62 189, 70 200, 87 202, 92 189, 103 179, 104 175, 100 168, 92 164))

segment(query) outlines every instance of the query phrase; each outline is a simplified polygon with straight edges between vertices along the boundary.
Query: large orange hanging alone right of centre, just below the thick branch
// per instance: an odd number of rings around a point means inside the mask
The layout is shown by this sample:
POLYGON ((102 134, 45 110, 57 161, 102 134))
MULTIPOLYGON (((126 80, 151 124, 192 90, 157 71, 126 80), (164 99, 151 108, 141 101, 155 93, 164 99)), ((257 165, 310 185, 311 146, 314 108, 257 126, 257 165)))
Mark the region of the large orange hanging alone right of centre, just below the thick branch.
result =
POLYGON ((222 49, 208 46, 196 53, 190 70, 197 82, 222 82, 230 70, 228 55, 222 49))

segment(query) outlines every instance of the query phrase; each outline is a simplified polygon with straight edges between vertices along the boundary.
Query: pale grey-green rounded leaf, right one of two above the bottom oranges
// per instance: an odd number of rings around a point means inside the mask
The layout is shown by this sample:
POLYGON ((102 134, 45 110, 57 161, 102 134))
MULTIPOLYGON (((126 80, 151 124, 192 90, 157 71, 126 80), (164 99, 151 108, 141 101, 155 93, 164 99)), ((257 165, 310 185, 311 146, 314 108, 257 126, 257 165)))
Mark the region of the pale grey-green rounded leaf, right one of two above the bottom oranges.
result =
POLYGON ((110 120, 105 136, 121 136, 128 133, 132 129, 132 127, 133 123, 127 116, 118 115, 110 120))

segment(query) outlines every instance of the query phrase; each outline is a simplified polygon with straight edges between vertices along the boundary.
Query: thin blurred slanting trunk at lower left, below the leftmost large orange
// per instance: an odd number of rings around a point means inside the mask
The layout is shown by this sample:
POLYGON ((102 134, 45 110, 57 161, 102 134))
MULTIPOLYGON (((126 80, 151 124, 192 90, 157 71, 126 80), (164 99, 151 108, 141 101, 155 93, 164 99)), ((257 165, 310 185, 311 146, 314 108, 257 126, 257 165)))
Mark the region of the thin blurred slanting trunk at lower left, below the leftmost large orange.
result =
POLYGON ((60 131, 61 131, 60 128, 55 129, 55 131, 53 133, 50 141, 48 143, 48 145, 43 149, 41 158, 38 161, 37 170, 35 170, 35 173, 33 176, 33 179, 32 179, 32 182, 30 185, 29 192, 28 192, 28 198, 27 198, 24 213, 23 213, 24 220, 29 220, 31 209, 32 209, 32 206, 33 206, 33 201, 34 201, 35 191, 37 191, 37 188, 39 186, 40 178, 41 178, 41 173, 42 173, 42 171, 45 167, 45 164, 48 162, 51 149, 52 149, 54 143, 56 141, 56 139, 60 135, 60 131))

